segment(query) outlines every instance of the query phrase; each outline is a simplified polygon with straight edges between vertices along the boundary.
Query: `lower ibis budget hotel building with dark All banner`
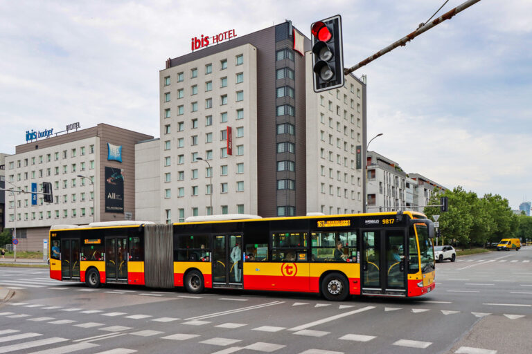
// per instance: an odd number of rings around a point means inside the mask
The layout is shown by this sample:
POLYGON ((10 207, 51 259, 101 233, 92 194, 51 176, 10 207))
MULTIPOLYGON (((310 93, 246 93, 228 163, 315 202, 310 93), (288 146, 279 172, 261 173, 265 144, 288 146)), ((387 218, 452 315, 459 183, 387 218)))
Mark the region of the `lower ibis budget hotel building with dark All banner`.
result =
POLYGON ((43 140, 31 140, 6 157, 6 227, 17 227, 19 250, 42 250, 51 225, 134 218, 135 144, 153 138, 98 124, 43 140), (42 183, 52 184, 44 203, 42 183), (16 211, 15 211, 16 210, 16 211))

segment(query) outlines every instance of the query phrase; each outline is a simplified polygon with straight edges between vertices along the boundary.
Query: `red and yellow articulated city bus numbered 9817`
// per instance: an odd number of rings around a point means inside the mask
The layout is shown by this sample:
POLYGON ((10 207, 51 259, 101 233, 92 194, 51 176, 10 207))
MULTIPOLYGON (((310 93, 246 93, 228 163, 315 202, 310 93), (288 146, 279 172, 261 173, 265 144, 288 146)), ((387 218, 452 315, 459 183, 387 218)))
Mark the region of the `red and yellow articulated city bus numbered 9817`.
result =
POLYGON ((433 236, 432 221, 417 212, 57 225, 50 277, 93 288, 314 292, 335 301, 416 297, 434 290, 433 236))

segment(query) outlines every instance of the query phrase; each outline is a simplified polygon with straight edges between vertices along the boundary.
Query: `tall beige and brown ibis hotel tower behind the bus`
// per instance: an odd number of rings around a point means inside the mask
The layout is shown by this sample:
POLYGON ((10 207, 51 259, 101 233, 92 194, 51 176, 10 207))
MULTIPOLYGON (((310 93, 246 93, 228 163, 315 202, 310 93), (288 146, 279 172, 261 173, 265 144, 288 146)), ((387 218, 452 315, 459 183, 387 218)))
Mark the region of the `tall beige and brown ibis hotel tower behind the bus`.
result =
POLYGON ((294 50, 294 35, 310 50, 287 21, 166 61, 159 221, 362 211, 365 85, 350 75, 343 88, 314 93, 311 56, 294 50))

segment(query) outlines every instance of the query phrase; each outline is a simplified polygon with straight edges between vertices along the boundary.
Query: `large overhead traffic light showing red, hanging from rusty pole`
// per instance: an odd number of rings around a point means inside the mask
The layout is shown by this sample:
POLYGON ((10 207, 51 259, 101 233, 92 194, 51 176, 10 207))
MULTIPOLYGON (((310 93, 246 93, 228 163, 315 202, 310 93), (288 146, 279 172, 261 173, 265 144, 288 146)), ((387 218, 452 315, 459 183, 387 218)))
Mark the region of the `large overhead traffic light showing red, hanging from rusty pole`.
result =
POLYGON ((336 15, 316 21, 312 33, 312 76, 314 92, 344 86, 342 17, 336 15))

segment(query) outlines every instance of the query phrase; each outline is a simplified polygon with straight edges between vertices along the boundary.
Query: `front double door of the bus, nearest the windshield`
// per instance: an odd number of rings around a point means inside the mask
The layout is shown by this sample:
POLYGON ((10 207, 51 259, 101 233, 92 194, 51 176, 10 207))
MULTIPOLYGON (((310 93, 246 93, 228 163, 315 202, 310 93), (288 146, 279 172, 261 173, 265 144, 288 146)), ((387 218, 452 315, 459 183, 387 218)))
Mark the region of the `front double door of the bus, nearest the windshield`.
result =
POLYGON ((362 232, 362 294, 406 296, 405 230, 362 232))

